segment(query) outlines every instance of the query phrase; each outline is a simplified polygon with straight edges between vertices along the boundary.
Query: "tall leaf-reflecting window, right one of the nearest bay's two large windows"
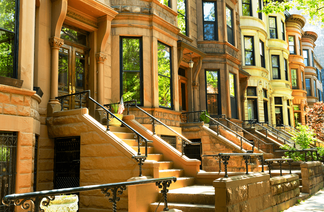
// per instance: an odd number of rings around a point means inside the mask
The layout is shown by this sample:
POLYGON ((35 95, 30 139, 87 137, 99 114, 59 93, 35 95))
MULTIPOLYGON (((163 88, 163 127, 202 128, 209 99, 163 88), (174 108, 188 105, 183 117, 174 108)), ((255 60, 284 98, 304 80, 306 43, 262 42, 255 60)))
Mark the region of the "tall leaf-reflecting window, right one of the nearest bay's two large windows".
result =
POLYGON ((157 62, 159 106, 172 109, 171 48, 159 42, 157 43, 157 62))

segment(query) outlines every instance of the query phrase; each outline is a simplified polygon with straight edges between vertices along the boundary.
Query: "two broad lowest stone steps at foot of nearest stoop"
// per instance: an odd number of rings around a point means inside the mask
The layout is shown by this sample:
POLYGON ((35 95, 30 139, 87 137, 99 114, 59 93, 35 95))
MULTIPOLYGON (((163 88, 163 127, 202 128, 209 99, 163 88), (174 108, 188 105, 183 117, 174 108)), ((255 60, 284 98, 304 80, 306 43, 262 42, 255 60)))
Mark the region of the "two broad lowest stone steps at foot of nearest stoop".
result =
MULTIPOLYGON (((159 199, 162 194, 159 194, 159 199)), ((154 212, 158 202, 150 205, 154 212)), ((163 211, 163 199, 156 211, 163 211)), ((192 185, 188 187, 169 190, 168 208, 186 212, 215 212, 215 190, 213 186, 192 185)))

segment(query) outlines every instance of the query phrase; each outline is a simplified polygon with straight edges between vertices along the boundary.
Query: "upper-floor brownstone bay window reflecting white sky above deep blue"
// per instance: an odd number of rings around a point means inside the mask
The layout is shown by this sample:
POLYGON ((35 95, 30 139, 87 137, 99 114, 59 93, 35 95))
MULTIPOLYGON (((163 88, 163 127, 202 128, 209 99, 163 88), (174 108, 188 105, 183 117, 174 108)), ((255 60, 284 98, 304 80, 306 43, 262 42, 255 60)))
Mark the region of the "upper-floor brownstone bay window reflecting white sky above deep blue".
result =
POLYGON ((218 40, 216 2, 203 1, 203 39, 218 40))

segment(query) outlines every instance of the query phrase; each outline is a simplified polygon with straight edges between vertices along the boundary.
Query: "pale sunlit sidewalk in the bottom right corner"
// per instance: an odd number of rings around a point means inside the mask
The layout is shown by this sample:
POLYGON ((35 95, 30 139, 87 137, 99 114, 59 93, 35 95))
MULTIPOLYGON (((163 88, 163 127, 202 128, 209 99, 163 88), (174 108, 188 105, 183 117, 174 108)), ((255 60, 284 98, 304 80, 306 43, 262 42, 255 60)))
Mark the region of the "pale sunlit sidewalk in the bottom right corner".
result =
POLYGON ((320 212, 324 211, 324 189, 319 190, 305 201, 292 206, 284 212, 320 212))

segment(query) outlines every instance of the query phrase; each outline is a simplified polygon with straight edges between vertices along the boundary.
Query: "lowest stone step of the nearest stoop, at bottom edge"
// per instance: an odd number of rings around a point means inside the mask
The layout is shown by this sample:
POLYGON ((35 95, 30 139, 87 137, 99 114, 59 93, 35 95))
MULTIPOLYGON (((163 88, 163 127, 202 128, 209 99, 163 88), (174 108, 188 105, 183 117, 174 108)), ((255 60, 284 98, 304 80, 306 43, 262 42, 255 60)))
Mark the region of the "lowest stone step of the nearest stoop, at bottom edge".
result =
MULTIPOLYGON (((161 201, 159 207, 156 210, 158 202, 152 203, 150 205, 150 211, 163 211, 164 202, 161 201)), ((188 204, 188 203, 172 203, 168 202, 169 209, 178 209, 185 212, 215 212, 215 205, 208 205, 208 204, 188 204)))

